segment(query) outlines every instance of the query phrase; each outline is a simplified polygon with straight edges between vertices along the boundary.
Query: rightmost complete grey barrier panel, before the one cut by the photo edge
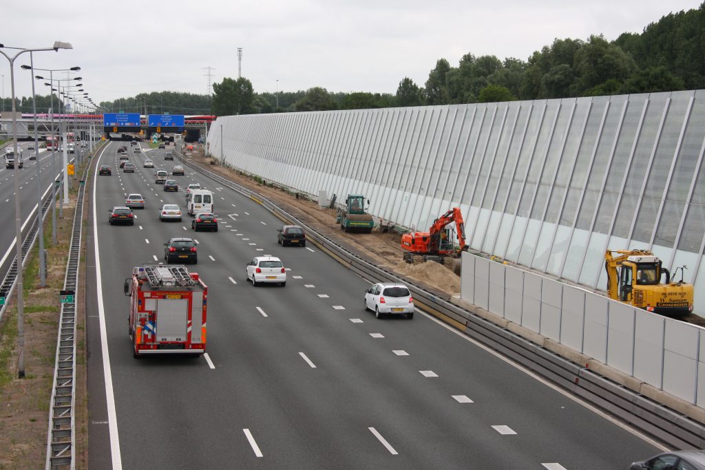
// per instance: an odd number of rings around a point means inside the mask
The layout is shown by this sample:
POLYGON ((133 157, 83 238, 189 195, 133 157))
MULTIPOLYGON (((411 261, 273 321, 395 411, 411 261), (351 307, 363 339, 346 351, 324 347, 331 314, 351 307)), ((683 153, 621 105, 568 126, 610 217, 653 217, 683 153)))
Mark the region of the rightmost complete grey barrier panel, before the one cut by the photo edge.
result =
POLYGON ((666 319, 663 390, 691 403, 695 402, 699 335, 699 328, 666 319))

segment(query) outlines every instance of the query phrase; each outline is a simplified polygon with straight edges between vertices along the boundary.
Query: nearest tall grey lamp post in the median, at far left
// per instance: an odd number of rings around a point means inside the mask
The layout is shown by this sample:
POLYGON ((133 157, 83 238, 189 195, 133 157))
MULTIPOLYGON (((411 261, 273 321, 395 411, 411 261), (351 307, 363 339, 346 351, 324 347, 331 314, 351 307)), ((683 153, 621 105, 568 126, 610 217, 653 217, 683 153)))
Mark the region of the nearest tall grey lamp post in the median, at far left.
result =
MULTIPOLYGON (((4 44, 0 44, 0 54, 10 62, 10 89, 12 98, 12 137, 15 155, 18 155, 17 149, 17 109, 15 104, 15 59, 25 52, 39 51, 59 51, 59 49, 73 49, 68 42, 54 42, 54 47, 44 47, 41 49, 21 49, 21 48, 6 48, 4 44), (1 49, 20 49, 14 56, 8 55, 1 49)), ((22 212, 20 211, 20 166, 15 164, 13 179, 15 180, 15 247, 17 249, 17 342, 19 352, 18 358, 18 377, 25 376, 25 311, 23 297, 23 282, 22 282, 22 212)))

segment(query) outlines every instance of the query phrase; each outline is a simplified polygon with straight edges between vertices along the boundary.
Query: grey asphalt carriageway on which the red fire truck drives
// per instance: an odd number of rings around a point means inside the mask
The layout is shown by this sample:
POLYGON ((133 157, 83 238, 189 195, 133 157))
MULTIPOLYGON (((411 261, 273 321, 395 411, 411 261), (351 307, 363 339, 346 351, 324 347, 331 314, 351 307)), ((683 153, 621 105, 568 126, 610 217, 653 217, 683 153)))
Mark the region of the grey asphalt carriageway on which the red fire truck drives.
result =
POLYGON ((219 232, 194 233, 188 215, 159 222, 184 193, 163 192, 142 162, 171 162, 130 153, 137 171, 122 173, 119 144, 97 156, 87 206, 91 468, 618 469, 660 451, 427 315, 375 319, 370 282, 314 245, 280 247, 281 221, 188 166, 174 179, 215 193, 219 232), (97 176, 101 164, 113 175, 97 176), (146 209, 109 225, 131 192, 146 209), (133 359, 123 282, 176 236, 198 242, 207 357, 133 359), (282 259, 286 287, 245 281, 259 254, 282 259))

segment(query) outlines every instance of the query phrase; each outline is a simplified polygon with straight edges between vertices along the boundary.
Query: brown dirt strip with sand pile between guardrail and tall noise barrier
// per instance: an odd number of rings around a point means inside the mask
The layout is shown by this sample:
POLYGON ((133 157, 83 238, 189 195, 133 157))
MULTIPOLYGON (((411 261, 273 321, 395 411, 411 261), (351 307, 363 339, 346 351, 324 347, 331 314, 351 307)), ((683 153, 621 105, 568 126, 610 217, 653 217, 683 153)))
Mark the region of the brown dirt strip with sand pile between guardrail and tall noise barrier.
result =
POLYGON ((407 264, 403 261, 403 249, 400 247, 400 235, 397 233, 345 233, 336 223, 334 209, 321 209, 317 202, 306 198, 297 198, 295 194, 274 187, 258 183, 254 178, 244 175, 232 168, 211 165, 213 159, 204 158, 201 148, 194 149, 185 154, 187 159, 194 163, 223 175, 233 180, 238 185, 243 185, 256 191, 274 202, 282 209, 307 223, 321 235, 336 240, 345 247, 376 266, 381 266, 388 271, 393 271, 398 276, 410 278, 434 292, 439 297, 448 298, 460 292, 460 277, 445 266, 433 261, 420 264, 407 264))

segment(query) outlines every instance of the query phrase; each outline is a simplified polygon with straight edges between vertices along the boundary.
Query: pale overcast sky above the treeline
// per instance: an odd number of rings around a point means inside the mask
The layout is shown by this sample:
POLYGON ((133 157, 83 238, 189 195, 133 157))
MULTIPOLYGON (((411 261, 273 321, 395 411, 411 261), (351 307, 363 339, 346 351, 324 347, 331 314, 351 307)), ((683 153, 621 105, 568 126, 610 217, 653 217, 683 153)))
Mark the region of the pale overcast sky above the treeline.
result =
MULTIPOLYGON (((255 92, 274 92, 278 79, 286 91, 394 93, 405 76, 422 86, 441 57, 453 66, 468 52, 526 60, 556 37, 613 40, 700 2, 1 0, 0 43, 70 42, 73 50, 35 54, 35 66, 80 66, 83 88, 96 103, 164 90, 204 94, 205 67, 215 69, 215 82, 237 78, 238 47, 255 92)), ((19 68, 25 63, 29 54, 16 61, 18 97, 32 93, 30 73, 19 68)), ((0 74, 9 97, 10 68, 2 57, 0 74)), ((37 86, 47 94, 43 82, 37 86)))

